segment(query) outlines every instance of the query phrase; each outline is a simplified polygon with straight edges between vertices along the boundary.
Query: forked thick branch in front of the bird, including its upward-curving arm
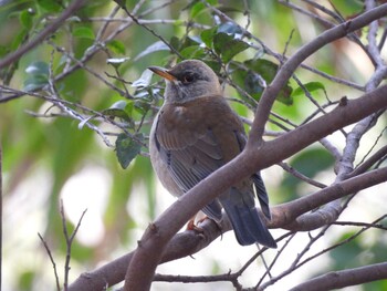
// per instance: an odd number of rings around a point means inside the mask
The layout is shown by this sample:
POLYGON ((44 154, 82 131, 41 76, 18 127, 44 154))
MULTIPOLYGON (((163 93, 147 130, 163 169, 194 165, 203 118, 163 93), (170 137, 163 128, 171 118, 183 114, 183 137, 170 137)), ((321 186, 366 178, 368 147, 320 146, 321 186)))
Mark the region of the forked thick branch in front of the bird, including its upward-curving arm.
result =
POLYGON ((199 209, 213 200, 220 193, 259 169, 281 162, 305 146, 325 137, 345 125, 357 122, 387 106, 387 86, 377 89, 355 101, 343 101, 333 112, 305 124, 269 143, 262 142, 264 125, 275 96, 287 82, 294 70, 312 53, 349 32, 368 24, 387 13, 387 4, 373 9, 351 21, 322 33, 301 48, 282 66, 272 84, 263 92, 245 150, 228 165, 201 180, 186 195, 171 205, 159 219, 145 231, 128 267, 125 290, 149 290, 155 270, 172 236, 199 209), (260 147, 257 148, 257 146, 260 147))

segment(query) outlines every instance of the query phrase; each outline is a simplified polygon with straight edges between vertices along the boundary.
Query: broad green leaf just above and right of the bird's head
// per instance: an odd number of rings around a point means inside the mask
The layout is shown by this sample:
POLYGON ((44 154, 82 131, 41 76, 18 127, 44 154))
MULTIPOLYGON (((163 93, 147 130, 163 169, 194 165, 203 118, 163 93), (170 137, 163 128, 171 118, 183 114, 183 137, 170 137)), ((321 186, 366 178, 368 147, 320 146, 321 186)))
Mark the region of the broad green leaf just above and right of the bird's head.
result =
POLYGON ((213 49, 224 63, 228 63, 236 54, 249 46, 244 41, 234 39, 232 35, 223 32, 217 33, 213 37, 213 49))

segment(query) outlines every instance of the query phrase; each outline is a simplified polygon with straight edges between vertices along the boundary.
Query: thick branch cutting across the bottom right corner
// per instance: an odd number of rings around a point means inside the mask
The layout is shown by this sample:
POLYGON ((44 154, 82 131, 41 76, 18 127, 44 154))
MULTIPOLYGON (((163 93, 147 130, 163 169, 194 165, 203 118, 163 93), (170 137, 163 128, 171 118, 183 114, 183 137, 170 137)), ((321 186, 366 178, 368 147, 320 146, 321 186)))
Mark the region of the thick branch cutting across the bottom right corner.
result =
POLYGON ((325 291, 383 279, 387 279, 387 262, 330 272, 299 284, 292 288, 291 291, 325 291))

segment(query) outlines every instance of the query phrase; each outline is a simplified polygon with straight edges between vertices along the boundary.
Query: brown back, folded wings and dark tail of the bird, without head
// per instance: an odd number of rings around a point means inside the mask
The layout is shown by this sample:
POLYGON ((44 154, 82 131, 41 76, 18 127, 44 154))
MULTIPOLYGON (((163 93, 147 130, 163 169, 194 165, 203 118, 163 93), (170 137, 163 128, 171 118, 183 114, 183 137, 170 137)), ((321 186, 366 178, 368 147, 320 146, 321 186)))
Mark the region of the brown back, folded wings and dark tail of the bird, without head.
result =
MULTIPOLYGON (((216 96, 164 105, 153 138, 168 173, 182 193, 236 157, 245 145, 241 121, 222 97, 216 96)), ((269 211, 268 195, 259 174, 241 180, 202 210, 219 221, 222 206, 241 245, 260 242, 275 247, 254 207, 252 185, 255 185, 261 206, 269 211)))

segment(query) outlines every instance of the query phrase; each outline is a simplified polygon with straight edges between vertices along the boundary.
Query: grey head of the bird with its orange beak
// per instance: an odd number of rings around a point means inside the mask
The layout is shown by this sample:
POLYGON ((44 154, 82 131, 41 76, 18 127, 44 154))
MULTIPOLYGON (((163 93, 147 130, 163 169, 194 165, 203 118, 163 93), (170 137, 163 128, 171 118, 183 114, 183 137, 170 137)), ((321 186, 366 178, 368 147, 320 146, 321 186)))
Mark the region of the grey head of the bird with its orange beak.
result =
POLYGON ((166 80, 166 102, 185 103, 201 96, 221 95, 217 74, 199 60, 187 60, 167 70, 149 66, 150 71, 166 80))

